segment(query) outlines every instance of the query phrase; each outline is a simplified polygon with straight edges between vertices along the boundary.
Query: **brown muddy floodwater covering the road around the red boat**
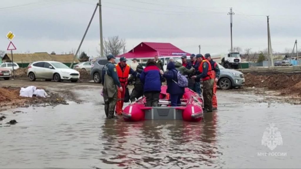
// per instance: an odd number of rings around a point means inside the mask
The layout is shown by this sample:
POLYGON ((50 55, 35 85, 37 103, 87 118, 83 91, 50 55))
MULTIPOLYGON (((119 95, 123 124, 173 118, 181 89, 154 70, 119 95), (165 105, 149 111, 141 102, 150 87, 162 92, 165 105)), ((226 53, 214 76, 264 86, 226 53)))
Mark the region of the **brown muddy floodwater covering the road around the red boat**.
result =
POLYGON ((199 123, 128 123, 106 120, 95 90, 77 93, 82 104, 1 112, 0 168, 301 167, 301 106, 218 91, 219 110, 199 123))

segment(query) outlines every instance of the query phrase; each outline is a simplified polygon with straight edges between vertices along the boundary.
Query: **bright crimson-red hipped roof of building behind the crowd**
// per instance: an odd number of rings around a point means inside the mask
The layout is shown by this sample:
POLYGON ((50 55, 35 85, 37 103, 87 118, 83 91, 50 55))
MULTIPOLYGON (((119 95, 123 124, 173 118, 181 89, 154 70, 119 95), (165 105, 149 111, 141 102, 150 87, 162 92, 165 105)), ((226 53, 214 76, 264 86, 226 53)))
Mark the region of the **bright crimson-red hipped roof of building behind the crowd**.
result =
POLYGON ((182 51, 171 43, 141 42, 128 53, 121 54, 117 57, 126 58, 152 58, 155 56, 190 56, 190 53, 182 51))

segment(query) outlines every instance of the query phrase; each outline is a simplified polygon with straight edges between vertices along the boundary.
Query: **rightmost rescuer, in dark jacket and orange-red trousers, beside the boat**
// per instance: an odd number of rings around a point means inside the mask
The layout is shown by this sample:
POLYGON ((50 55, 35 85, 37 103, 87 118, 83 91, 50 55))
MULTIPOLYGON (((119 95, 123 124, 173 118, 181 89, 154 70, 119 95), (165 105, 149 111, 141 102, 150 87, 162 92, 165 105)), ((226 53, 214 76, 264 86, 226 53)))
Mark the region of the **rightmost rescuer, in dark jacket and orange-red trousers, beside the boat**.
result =
POLYGON ((211 59, 210 54, 205 54, 205 58, 210 62, 211 68, 212 68, 212 75, 214 78, 214 84, 213 84, 213 96, 212 96, 212 109, 217 110, 217 99, 216 99, 216 90, 217 86, 216 83, 219 81, 219 65, 211 59))

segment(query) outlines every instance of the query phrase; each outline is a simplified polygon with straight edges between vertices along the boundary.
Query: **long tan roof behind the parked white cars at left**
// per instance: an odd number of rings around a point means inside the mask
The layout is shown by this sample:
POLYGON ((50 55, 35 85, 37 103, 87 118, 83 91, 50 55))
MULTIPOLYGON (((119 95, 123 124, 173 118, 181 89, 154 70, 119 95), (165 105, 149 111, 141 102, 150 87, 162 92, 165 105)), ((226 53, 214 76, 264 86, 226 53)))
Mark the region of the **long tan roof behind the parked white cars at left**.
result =
MULTIPOLYGON (((70 63, 74 54, 54 55, 47 52, 36 52, 33 54, 13 54, 14 63, 31 63, 37 61, 57 61, 62 63, 70 63)), ((2 58, 5 62, 11 62, 11 54, 5 54, 2 58)), ((75 63, 79 63, 76 59, 75 63)))

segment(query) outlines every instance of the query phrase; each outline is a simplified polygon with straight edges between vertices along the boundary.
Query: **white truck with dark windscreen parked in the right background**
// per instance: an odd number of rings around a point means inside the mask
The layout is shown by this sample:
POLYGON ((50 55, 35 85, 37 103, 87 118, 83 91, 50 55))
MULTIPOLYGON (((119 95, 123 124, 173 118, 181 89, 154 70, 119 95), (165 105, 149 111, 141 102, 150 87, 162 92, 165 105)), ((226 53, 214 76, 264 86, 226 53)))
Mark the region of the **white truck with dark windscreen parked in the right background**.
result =
POLYGON ((210 54, 211 59, 224 66, 226 69, 239 69, 241 58, 239 52, 210 54))

